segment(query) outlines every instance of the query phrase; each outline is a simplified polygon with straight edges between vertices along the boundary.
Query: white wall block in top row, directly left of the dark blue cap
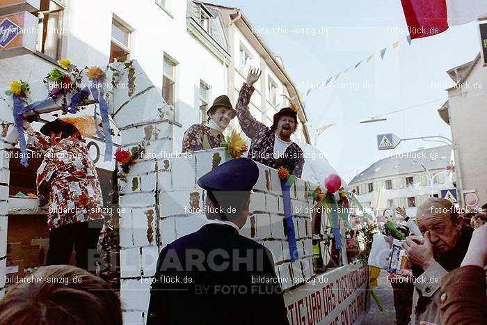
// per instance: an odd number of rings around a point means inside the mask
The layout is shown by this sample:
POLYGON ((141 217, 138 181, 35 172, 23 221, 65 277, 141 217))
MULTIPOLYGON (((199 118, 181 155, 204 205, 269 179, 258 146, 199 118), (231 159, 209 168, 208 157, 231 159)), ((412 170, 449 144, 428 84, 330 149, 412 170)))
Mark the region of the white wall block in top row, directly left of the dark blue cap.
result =
POLYGON ((173 189, 200 189, 196 183, 196 157, 175 157, 171 159, 173 189))

